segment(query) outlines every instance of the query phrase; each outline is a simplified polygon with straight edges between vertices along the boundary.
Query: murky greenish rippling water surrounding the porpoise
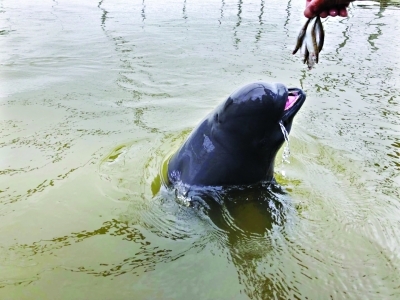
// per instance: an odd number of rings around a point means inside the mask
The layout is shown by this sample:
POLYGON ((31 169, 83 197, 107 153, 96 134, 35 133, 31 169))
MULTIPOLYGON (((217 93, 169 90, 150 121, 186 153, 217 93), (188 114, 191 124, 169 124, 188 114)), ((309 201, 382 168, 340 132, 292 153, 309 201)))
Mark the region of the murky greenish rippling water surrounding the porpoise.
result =
POLYGON ((0 1, 1 299, 398 299, 400 10, 304 1, 0 1), (301 87, 283 187, 160 188, 236 88, 301 87))

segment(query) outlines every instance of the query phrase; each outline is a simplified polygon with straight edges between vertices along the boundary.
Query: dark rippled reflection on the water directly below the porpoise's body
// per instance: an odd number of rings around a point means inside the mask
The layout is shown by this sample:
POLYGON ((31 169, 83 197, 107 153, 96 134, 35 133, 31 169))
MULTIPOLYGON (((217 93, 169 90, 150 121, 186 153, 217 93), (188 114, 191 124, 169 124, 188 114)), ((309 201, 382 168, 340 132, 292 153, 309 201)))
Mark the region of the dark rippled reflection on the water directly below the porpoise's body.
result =
POLYGON ((270 265, 276 263, 270 252, 280 251, 285 224, 288 219, 293 221, 293 207, 282 189, 277 185, 256 185, 188 194, 206 202, 207 216, 226 235, 219 240, 236 267, 243 292, 251 299, 288 299, 288 290, 293 293, 293 288, 290 283, 281 284, 284 276, 260 269, 266 261, 270 265))

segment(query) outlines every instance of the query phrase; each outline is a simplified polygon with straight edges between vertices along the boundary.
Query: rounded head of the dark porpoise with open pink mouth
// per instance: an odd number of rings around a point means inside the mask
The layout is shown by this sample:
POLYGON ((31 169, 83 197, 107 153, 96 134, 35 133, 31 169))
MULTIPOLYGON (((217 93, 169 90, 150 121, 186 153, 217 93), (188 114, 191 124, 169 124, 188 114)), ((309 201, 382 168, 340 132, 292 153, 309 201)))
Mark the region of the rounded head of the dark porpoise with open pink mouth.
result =
POLYGON ((232 151, 246 148, 254 154, 265 154, 268 148, 275 155, 284 142, 279 122, 289 133, 305 99, 301 89, 287 89, 280 83, 248 84, 233 92, 210 115, 211 136, 232 151))

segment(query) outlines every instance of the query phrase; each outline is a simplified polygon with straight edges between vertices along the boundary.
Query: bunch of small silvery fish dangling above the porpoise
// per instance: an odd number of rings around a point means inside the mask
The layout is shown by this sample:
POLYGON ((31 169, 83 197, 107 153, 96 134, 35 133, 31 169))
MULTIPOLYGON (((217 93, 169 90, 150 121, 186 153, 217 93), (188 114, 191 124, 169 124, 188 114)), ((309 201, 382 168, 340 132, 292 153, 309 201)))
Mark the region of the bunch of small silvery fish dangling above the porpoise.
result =
POLYGON ((296 54, 301 49, 304 55, 303 62, 307 63, 308 69, 311 70, 319 61, 319 53, 324 46, 324 40, 325 32, 321 18, 316 16, 308 19, 299 32, 293 54, 296 54))

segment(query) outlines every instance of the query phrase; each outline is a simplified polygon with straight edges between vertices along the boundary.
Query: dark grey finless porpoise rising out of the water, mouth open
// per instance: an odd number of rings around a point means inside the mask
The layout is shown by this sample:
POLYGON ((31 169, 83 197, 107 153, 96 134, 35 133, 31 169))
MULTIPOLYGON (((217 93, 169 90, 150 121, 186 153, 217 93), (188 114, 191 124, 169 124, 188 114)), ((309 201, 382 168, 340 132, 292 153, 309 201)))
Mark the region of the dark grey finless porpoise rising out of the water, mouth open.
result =
POLYGON ((190 134, 168 164, 168 179, 189 186, 270 182, 275 156, 306 99, 298 88, 256 82, 232 93, 190 134))

